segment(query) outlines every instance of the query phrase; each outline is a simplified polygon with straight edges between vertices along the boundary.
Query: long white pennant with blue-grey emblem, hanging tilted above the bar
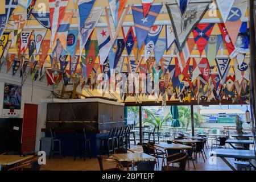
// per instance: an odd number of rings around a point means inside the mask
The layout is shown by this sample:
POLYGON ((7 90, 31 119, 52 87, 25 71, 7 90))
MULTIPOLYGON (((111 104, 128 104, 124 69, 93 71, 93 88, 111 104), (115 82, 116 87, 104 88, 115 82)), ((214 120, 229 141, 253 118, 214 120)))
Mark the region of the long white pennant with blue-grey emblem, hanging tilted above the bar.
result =
POLYGON ((89 36, 92 34, 94 27, 101 18, 103 9, 94 9, 90 12, 86 22, 79 28, 80 32, 80 56, 82 54, 82 49, 84 48, 89 36))

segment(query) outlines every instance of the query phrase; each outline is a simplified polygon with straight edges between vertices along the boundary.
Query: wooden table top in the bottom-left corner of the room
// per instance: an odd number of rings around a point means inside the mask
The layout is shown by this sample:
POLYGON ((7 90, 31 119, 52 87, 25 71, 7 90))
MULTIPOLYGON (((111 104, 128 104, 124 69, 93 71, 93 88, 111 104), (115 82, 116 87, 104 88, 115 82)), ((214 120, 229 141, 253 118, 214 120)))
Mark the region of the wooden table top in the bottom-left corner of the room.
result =
POLYGON ((33 158, 33 155, 28 155, 26 157, 21 157, 19 155, 0 155, 0 164, 9 166, 11 164, 19 163, 30 158, 33 158))

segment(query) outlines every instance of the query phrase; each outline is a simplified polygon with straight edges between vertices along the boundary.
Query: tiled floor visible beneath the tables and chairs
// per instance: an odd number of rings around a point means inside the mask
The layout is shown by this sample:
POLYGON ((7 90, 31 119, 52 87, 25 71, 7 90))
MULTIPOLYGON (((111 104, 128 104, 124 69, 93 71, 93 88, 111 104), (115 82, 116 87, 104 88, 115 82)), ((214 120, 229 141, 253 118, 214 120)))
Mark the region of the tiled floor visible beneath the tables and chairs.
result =
MULTIPOLYGON (((132 146, 132 150, 136 152, 142 152, 141 146, 132 146)), ((210 158, 209 156, 210 150, 206 151, 207 153, 207 160, 204 162, 202 156, 198 158, 198 162, 195 162, 196 170, 197 171, 231 171, 231 169, 220 159, 220 158, 210 158)), ((234 159, 228 159, 231 163, 234 162, 234 159)), ((192 162, 190 163, 190 168, 187 165, 187 170, 195 170, 193 168, 192 162)), ((114 168, 115 165, 104 163, 104 168, 114 168)), ((72 157, 65 157, 63 159, 59 159, 58 156, 56 158, 47 159, 47 164, 43 165, 42 170, 56 170, 56 171, 62 171, 62 170, 75 170, 75 171, 84 171, 84 170, 90 170, 90 171, 97 171, 100 170, 98 161, 96 158, 86 158, 86 161, 84 162, 83 159, 77 158, 76 161, 73 160, 72 157)))

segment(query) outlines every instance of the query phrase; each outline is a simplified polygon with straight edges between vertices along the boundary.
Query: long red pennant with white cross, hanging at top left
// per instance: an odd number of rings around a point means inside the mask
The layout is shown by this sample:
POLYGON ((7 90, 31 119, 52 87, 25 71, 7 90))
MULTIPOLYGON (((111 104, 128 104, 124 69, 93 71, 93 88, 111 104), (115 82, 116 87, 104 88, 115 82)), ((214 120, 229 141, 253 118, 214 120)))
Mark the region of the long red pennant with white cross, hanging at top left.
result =
POLYGON ((51 22, 51 48, 53 48, 53 41, 59 28, 60 21, 61 19, 63 19, 67 5, 68 0, 49 0, 49 19, 51 22))

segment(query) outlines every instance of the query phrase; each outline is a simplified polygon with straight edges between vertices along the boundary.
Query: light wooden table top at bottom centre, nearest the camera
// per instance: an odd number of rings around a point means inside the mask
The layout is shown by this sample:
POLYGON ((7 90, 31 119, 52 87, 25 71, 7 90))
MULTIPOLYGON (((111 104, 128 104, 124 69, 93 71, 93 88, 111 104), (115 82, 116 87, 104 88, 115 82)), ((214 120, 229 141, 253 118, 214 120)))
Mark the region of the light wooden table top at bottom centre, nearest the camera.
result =
POLYGON ((155 160, 154 156, 145 154, 145 153, 127 153, 127 154, 113 154, 111 156, 114 159, 117 159, 119 162, 121 161, 141 161, 141 160, 155 160))

